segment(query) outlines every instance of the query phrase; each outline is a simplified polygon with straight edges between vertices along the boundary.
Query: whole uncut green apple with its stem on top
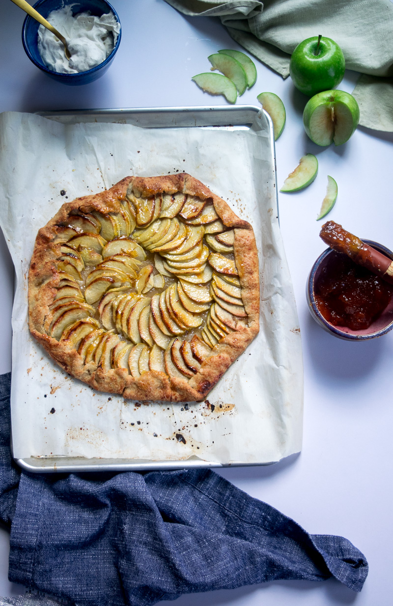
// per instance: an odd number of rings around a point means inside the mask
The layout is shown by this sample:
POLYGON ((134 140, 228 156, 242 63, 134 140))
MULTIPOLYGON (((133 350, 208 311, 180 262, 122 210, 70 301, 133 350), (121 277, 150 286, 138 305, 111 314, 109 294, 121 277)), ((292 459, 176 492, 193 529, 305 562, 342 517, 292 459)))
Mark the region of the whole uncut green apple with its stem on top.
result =
POLYGON ((289 63, 289 74, 294 85, 309 97, 336 87, 345 72, 344 55, 337 42, 322 37, 318 55, 315 55, 317 44, 318 36, 300 42, 289 63))

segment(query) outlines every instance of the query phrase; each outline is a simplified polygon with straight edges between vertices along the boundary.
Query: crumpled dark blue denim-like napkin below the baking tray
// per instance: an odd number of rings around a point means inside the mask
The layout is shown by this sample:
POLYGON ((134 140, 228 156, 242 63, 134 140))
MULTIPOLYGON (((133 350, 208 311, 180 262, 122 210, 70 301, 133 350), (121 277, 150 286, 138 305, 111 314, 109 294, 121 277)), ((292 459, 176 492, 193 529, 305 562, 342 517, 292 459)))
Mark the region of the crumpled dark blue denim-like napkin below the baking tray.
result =
POLYGON ((0 415, 10 581, 88 606, 146 606, 273 579, 334 576, 362 589, 368 564, 351 542, 306 533, 213 471, 20 472, 9 449, 10 374, 0 376, 0 415))

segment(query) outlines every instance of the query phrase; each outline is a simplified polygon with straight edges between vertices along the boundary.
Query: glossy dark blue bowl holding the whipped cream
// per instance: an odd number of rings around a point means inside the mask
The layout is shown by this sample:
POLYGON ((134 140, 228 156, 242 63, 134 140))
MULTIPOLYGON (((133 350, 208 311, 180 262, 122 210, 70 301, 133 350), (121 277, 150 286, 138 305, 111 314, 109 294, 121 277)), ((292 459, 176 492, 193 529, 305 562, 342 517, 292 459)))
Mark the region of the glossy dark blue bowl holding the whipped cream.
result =
MULTIPOLYGON (((116 13, 116 10, 114 10, 114 8, 109 4, 109 2, 105 2, 104 0, 81 0, 80 2, 73 2, 73 0, 70 0, 69 2, 65 2, 64 0, 39 0, 34 5, 34 8, 38 13, 41 13, 41 15, 45 19, 47 19, 49 13, 52 10, 58 10, 66 4, 72 4, 73 15, 77 15, 78 13, 90 10, 91 15, 101 17, 101 15, 104 15, 104 13, 109 13, 111 11, 116 20, 120 23, 120 19, 116 13)), ((91 68, 91 70, 87 70, 87 72, 79 72, 76 74, 62 74, 59 72, 53 72, 52 70, 48 69, 42 61, 41 55, 38 52, 38 28, 38 21, 32 19, 29 16, 25 18, 22 27, 22 42, 28 58, 40 70, 42 70, 42 72, 47 73, 50 78, 53 78, 58 82, 62 82, 62 84, 71 85, 88 84, 89 82, 97 80, 97 78, 101 78, 101 76, 104 75, 111 62, 113 61, 114 55, 116 55, 117 48, 119 48, 122 35, 120 30, 113 51, 107 57, 107 59, 105 59, 105 61, 103 61, 99 65, 96 65, 96 67, 91 68)))

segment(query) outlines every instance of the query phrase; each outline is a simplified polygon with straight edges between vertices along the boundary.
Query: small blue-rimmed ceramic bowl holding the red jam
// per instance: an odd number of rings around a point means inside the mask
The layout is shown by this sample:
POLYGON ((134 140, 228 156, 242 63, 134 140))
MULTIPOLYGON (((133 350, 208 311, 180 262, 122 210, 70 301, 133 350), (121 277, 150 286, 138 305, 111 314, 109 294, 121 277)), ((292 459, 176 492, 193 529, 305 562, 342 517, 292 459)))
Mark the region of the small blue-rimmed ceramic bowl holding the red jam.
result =
MULTIPOLYGON (((389 250, 389 248, 385 248, 385 246, 382 246, 377 242, 372 242, 371 240, 363 240, 363 242, 393 260, 393 252, 389 250)), ((312 266, 306 288, 308 308, 312 318, 314 318, 315 322, 322 328, 325 328, 328 333, 335 337, 339 337, 339 339, 345 339, 345 341, 365 341, 366 339, 374 339, 375 337, 385 335, 393 328, 393 299, 389 302, 388 307, 382 311, 380 316, 374 320, 368 328, 363 328, 362 330, 352 330, 345 326, 334 326, 323 317, 322 313, 320 313, 314 296, 315 284, 318 282, 322 269, 324 267, 329 267, 329 262, 334 255, 342 254, 343 253, 336 253, 331 248, 326 248, 312 266)))

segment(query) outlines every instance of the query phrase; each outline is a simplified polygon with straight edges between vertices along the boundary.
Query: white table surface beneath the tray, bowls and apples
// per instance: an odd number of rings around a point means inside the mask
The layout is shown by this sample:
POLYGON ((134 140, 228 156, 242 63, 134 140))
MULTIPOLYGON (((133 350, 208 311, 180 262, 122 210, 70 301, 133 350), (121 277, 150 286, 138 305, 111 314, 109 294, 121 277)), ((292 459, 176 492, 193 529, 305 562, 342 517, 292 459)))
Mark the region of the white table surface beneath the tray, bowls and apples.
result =
MULTIPOLYGON (((223 104, 203 93, 191 76, 208 71, 207 56, 240 47, 215 19, 187 18, 163 0, 113 0, 122 23, 122 42, 102 79, 81 87, 52 81, 31 64, 21 43, 24 14, 12 2, 0 5, 0 111, 35 112, 72 108, 153 107, 223 104)), ((310 32, 317 35, 319 31, 310 32)), ((322 32, 323 33, 323 32, 322 32)), ((369 576, 357 594, 334 579, 322 583, 278 581, 237 590, 182 596, 179 606, 356 606, 391 603, 393 476, 393 331, 358 344, 336 339, 309 315, 305 284, 311 265, 325 249, 315 217, 326 176, 339 186, 329 219, 361 238, 393 248, 392 134, 358 128, 342 147, 317 147, 305 135, 306 98, 291 79, 283 81, 256 62, 256 85, 242 97, 271 91, 286 107, 285 130, 276 143, 277 181, 300 157, 314 153, 319 175, 304 191, 279 193, 280 225, 291 270, 305 365, 302 453, 271 467, 220 471, 252 496, 277 507, 310 533, 345 536, 363 551, 369 576)), ((340 88, 351 92, 357 74, 347 72, 340 88)), ((1 203, 1 201, 0 201, 1 203)), ((0 372, 11 369, 12 262, 0 239, 0 372)), ((7 580, 8 534, 0 529, 0 595, 24 593, 7 580)), ((169 604, 169 602, 168 602, 169 604)))

